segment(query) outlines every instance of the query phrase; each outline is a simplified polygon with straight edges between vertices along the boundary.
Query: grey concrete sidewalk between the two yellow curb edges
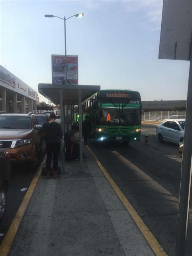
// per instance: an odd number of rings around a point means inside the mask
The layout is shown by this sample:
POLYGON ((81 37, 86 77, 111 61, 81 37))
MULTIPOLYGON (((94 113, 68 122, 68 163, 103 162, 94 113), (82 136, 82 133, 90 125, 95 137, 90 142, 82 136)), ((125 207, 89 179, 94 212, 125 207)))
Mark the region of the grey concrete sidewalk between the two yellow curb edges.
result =
POLYGON ((154 253, 89 156, 66 162, 59 179, 41 176, 9 256, 152 256, 154 253))

